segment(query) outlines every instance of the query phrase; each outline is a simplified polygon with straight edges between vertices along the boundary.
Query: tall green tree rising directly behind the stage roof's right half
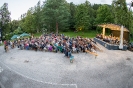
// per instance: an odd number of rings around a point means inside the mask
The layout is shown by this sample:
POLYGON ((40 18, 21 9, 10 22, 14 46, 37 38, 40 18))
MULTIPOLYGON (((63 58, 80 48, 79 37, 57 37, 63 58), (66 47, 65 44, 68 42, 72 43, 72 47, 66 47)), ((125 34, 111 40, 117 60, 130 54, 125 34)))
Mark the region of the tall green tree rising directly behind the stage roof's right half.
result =
POLYGON ((112 2, 114 22, 119 25, 123 25, 129 28, 128 22, 128 8, 126 6, 126 0, 113 0, 112 2))

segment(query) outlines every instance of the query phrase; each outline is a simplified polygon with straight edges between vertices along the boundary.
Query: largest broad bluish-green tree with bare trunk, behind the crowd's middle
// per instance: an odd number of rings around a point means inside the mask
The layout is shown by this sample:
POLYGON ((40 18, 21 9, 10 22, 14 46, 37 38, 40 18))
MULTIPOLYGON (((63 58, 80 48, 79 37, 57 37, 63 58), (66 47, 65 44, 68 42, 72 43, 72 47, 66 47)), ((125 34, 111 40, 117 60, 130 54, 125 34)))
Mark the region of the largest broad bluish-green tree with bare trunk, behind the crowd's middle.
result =
POLYGON ((43 21, 49 31, 56 33, 69 27, 69 9, 65 0, 46 0, 43 4, 43 21))

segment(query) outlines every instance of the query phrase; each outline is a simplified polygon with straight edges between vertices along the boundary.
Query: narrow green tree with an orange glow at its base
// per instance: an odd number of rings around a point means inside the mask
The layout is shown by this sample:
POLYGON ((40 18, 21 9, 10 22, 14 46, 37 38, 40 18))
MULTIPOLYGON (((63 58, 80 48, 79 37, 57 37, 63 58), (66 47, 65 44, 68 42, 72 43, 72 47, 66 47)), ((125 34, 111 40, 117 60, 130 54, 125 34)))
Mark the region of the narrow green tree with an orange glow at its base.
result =
POLYGON ((86 31, 90 28, 90 15, 89 15, 89 3, 86 1, 84 4, 80 4, 76 8, 75 15, 75 28, 77 30, 86 31))

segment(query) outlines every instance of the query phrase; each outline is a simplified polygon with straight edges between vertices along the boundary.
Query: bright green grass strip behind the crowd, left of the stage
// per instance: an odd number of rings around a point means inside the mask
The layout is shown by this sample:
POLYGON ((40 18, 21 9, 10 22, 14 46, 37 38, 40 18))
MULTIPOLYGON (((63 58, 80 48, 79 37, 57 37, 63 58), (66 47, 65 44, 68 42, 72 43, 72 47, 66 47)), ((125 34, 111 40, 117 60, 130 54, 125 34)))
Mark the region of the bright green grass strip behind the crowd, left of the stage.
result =
POLYGON ((69 36, 69 37, 76 37, 76 36, 81 36, 84 38, 94 38, 96 36, 96 32, 95 31, 88 31, 88 32, 61 32, 62 34, 64 34, 65 36, 69 36))

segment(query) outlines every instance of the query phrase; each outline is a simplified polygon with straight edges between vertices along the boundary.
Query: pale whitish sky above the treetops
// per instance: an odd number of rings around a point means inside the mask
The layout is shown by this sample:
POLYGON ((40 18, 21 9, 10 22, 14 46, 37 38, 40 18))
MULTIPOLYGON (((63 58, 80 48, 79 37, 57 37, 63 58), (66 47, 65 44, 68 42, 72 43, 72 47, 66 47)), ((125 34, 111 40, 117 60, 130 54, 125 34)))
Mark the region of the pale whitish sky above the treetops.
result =
MULTIPOLYGON (((0 7, 4 3, 8 3, 8 10, 11 12, 11 20, 18 20, 21 14, 28 11, 30 7, 34 7, 39 0, 0 0, 0 7)), ((41 3, 45 0, 40 0, 41 3)), ((74 4, 84 3, 86 0, 66 0, 74 4)), ((88 0, 91 4, 111 4, 112 0, 88 0)), ((132 0, 126 0, 130 3, 132 0)))

